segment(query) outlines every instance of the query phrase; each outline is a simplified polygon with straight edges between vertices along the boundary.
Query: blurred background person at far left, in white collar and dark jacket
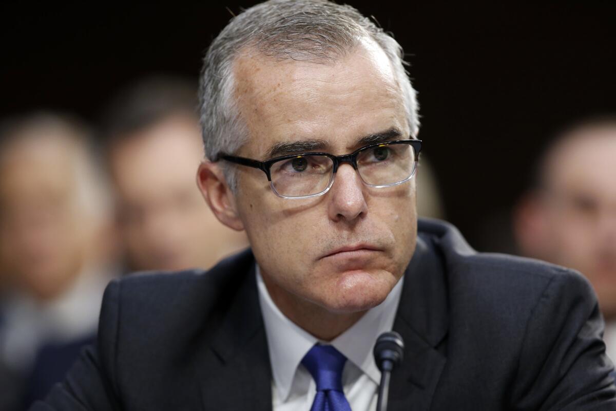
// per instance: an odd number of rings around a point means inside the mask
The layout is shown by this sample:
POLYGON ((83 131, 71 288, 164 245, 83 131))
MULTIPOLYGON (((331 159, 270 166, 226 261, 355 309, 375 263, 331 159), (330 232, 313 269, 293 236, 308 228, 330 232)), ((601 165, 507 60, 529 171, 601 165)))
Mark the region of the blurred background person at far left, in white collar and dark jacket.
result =
POLYGON ((2 410, 44 397, 94 339, 113 272, 103 176, 76 121, 35 114, 0 128, 2 410))

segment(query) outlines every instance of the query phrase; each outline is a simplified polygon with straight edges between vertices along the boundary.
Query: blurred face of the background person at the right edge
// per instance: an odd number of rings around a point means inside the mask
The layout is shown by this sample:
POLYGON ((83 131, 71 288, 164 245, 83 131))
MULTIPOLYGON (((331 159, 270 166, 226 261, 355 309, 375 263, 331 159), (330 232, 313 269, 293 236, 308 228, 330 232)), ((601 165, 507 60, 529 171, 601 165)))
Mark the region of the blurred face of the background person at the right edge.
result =
POLYGON ((587 131, 554 157, 544 200, 549 258, 579 270, 616 315, 616 129, 587 131))

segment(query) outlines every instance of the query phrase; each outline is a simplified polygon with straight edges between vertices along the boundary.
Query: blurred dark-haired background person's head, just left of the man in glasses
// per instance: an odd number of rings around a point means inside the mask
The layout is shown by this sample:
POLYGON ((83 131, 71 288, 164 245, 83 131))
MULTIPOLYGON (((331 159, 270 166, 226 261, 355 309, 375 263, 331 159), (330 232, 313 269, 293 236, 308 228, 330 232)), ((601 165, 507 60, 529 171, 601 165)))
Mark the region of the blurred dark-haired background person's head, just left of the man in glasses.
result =
POLYGON ((164 76, 120 92, 103 116, 129 271, 207 269, 248 245, 197 189, 203 144, 197 86, 164 76))

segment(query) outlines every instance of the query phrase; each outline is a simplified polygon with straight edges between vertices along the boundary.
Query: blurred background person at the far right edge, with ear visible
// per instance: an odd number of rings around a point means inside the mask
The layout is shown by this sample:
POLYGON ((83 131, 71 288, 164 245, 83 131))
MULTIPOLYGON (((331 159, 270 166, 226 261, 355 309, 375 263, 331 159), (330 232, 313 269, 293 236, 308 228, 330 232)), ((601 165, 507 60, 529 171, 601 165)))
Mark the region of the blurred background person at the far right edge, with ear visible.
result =
POLYGON ((586 275, 616 359, 616 117, 564 132, 541 160, 537 184, 514 213, 522 253, 586 275))

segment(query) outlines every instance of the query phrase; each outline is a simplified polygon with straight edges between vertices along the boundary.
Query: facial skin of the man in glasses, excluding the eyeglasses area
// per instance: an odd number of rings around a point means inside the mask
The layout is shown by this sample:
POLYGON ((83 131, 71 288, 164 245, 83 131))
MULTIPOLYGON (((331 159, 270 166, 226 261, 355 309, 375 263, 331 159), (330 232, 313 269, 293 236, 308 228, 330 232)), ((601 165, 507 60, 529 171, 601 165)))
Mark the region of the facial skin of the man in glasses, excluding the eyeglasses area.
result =
MULTIPOLYGON (((365 42, 336 62, 280 62, 246 53, 236 97, 249 142, 238 155, 265 160, 280 143, 323 140, 335 155, 392 129, 407 139, 405 109, 384 52, 365 42)), ((280 154, 278 154, 280 155, 280 154)), ((376 306, 415 249, 415 182, 370 188, 351 165, 320 197, 277 197, 258 169, 238 168, 237 211, 277 304, 299 299, 330 312, 376 306), (350 250, 350 251, 345 251, 350 250)))

